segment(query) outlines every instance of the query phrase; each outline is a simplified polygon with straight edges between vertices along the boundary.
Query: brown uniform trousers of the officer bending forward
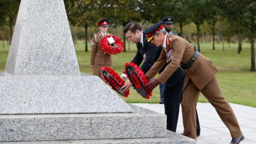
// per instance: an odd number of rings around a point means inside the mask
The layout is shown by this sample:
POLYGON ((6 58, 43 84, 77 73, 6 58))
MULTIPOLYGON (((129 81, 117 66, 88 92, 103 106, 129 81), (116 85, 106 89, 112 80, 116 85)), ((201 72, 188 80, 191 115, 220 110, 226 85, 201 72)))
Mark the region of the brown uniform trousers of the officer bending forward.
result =
MULTIPOLYGON (((189 80, 183 91, 181 102, 182 117, 184 126, 184 135, 196 139, 196 102, 199 97, 197 86, 189 80)), ((201 90, 204 97, 209 100, 211 105, 216 109, 222 122, 228 127, 232 138, 236 138, 242 134, 238 125, 236 116, 231 109, 229 103, 223 98, 216 77, 201 90)))

